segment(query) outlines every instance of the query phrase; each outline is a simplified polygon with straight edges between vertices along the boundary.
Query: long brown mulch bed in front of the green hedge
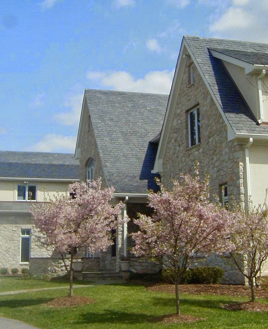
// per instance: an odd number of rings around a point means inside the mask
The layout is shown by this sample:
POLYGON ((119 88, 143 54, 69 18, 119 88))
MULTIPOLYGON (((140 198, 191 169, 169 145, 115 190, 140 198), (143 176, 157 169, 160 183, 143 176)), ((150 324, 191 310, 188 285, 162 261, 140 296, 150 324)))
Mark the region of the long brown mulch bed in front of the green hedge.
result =
MULTIPOLYGON (((175 293, 175 285, 154 284, 148 285, 147 290, 156 292, 175 293)), ((242 285, 180 285, 179 293, 192 295, 227 295, 227 296, 244 296, 250 297, 249 287, 242 285)), ((268 289, 256 288, 255 297, 268 298, 268 289)))

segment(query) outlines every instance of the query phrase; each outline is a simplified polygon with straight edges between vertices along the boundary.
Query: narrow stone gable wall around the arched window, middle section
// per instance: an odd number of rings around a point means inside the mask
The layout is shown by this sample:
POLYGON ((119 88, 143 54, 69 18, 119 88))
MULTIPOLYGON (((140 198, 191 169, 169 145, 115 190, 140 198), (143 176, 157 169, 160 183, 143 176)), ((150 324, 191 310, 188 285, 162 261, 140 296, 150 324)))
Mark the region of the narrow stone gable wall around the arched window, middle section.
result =
POLYGON ((102 187, 106 187, 106 180, 104 177, 101 159, 97 147, 97 142, 93 130, 92 120, 90 118, 89 109, 87 104, 86 115, 83 127, 83 136, 81 142, 81 158, 80 158, 80 180, 85 181, 87 179, 87 164, 89 159, 94 159, 94 179, 102 178, 102 187))

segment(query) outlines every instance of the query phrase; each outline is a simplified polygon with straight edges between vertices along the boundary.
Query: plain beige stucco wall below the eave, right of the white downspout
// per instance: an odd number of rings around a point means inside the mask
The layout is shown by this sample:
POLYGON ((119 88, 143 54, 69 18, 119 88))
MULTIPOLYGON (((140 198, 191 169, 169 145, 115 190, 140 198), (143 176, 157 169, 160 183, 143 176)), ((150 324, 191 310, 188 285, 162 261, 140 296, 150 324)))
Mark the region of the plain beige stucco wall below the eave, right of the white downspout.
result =
POLYGON ((250 187, 255 205, 263 203, 268 189, 268 146, 252 145, 249 148, 250 187))

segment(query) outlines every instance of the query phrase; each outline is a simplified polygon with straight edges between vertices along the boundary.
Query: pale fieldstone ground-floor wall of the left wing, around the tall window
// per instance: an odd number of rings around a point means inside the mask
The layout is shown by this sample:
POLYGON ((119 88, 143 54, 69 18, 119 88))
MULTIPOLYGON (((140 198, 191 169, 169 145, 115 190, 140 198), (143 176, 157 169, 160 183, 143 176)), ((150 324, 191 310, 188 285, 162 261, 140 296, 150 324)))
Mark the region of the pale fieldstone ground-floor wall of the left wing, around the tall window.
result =
POLYGON ((29 213, 1 213, 0 267, 7 267, 10 272, 14 267, 18 269, 29 267, 28 264, 20 263, 21 229, 31 229, 30 254, 32 257, 50 257, 53 253, 52 249, 46 250, 38 244, 35 239, 37 230, 29 213))

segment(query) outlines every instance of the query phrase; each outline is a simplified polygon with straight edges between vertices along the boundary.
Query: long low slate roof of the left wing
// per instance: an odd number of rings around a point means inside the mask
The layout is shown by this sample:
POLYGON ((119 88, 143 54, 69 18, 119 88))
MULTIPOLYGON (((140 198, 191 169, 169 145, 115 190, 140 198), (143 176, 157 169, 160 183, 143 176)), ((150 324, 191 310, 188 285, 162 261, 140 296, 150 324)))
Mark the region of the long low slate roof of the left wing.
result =
POLYGON ((74 154, 0 151, 0 177, 79 179, 74 154))

